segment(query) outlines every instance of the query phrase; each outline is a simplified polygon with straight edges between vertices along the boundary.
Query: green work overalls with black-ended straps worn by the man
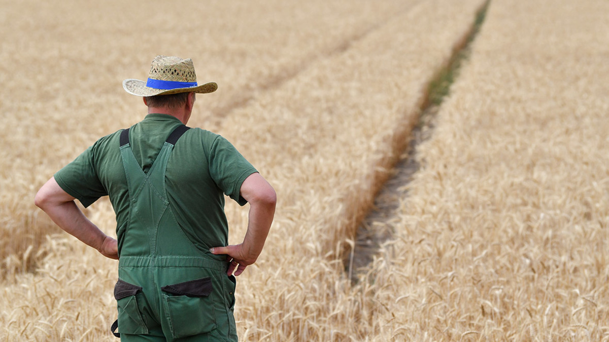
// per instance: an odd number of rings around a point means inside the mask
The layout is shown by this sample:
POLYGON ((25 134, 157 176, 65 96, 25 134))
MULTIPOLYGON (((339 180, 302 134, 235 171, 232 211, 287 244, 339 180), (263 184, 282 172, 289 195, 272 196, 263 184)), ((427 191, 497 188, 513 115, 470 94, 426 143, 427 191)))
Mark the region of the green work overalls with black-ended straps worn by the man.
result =
POLYGON ((129 130, 121 132, 130 198, 129 222, 117 232, 122 246, 114 298, 122 341, 238 340, 228 263, 193 245, 167 201, 167 161, 188 129, 182 125, 172 132, 147 173, 133 155, 129 130))

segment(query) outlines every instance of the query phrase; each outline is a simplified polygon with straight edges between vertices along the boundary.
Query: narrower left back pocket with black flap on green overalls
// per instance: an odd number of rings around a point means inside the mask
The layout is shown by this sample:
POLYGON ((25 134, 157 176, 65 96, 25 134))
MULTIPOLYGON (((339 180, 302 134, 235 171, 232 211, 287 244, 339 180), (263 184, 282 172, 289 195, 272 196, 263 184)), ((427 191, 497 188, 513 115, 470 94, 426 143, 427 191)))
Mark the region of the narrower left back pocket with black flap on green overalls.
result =
POLYGON ((142 288, 122 281, 114 285, 114 299, 118 304, 118 332, 135 335, 147 334, 148 327, 139 312, 137 296, 142 288))

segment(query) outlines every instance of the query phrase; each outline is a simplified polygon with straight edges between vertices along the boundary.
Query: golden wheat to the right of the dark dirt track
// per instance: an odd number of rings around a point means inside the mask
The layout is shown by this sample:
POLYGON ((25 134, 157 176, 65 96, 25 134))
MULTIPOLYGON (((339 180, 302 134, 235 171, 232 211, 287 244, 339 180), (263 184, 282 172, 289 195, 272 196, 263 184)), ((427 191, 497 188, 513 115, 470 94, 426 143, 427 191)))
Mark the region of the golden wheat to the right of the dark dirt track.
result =
POLYGON ((367 274, 378 340, 609 339, 607 13, 491 3, 367 274))

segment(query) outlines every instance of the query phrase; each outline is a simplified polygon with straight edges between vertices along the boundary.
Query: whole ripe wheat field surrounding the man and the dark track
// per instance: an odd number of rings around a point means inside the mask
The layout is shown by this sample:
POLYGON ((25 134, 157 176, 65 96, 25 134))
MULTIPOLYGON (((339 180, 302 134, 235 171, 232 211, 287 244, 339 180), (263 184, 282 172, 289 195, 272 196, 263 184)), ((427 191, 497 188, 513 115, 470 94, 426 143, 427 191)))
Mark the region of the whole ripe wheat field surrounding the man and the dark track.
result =
MULTIPOLYGON (((278 194, 265 249, 238 277, 241 340, 609 340, 609 2, 484 5, 0 2, 0 340, 116 340, 116 261, 33 195, 143 118, 121 82, 158 54, 218 83, 189 125, 233 142, 278 194), (354 270, 357 226, 480 10, 420 169, 372 223, 392 237, 354 270)), ((238 243, 247 209, 226 211, 238 243)), ((86 214, 114 234, 109 201, 86 214)))

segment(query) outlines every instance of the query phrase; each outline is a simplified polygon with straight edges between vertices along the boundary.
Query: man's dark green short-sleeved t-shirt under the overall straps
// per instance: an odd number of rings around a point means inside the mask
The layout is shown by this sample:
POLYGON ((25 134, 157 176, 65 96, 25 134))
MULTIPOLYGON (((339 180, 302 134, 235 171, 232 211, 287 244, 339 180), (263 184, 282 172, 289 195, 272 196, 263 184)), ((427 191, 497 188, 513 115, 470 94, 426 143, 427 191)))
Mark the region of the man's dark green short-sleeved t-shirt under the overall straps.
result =
MULTIPOLYGON (((147 172, 180 120, 149 114, 133 125, 129 141, 139 165, 147 172)), ((117 228, 129 213, 127 179, 119 150, 121 131, 99 139, 63 169, 55 180, 65 192, 88 207, 108 195, 117 228)), ((202 251, 228 244, 224 194, 240 205, 241 184, 256 169, 218 134, 192 128, 181 136, 167 162, 165 184, 169 206, 185 234, 202 251)))

